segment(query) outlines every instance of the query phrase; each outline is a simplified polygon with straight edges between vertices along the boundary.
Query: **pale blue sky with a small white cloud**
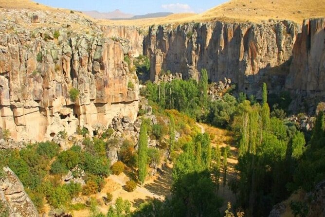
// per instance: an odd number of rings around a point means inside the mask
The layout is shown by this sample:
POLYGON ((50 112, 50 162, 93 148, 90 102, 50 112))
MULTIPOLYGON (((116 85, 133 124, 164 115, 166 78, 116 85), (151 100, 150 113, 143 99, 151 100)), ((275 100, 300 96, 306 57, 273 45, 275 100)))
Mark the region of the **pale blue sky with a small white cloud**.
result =
POLYGON ((201 13, 227 0, 34 0, 52 7, 78 11, 96 10, 110 12, 115 9, 143 15, 155 12, 195 12, 201 13))

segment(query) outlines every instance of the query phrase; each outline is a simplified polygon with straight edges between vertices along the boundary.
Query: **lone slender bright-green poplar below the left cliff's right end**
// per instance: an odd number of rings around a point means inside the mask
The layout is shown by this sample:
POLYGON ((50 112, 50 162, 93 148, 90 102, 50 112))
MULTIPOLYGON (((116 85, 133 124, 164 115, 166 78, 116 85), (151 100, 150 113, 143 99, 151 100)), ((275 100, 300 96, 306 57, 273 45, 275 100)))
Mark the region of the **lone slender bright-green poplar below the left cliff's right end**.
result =
POLYGON ((138 148, 138 169, 139 169, 139 180, 141 186, 144 183, 146 176, 146 166, 148 160, 148 137, 147 137, 147 125, 145 121, 142 122, 140 127, 140 138, 139 138, 139 148, 138 148))

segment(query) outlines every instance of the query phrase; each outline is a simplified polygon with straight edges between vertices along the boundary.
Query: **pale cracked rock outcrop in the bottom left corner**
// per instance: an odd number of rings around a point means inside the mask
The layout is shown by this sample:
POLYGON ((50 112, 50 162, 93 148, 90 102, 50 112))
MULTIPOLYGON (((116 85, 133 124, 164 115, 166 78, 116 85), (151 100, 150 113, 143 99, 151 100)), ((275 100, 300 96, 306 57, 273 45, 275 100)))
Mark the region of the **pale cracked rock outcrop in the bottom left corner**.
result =
POLYGON ((3 171, 4 178, 0 179, 0 201, 7 206, 9 217, 38 217, 34 203, 15 173, 8 167, 4 167, 3 171))

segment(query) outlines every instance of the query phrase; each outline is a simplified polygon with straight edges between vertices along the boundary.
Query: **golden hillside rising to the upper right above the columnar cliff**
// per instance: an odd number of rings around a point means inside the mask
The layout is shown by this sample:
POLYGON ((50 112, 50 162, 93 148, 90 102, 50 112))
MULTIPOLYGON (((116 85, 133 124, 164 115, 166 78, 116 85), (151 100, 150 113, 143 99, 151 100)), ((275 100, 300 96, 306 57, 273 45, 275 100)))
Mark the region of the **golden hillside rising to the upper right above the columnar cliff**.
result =
POLYGON ((139 25, 202 21, 263 22, 269 19, 289 19, 301 23, 305 18, 325 16, 322 0, 230 0, 201 14, 174 14, 159 19, 123 20, 115 24, 139 25))

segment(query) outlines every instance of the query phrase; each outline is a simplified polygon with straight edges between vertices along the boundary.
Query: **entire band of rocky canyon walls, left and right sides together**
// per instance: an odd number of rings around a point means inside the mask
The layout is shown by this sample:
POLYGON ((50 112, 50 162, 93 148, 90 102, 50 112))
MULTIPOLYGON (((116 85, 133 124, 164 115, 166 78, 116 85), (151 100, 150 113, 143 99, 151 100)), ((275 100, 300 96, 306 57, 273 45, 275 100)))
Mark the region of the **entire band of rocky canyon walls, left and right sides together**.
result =
POLYGON ((13 13, 21 19, 1 11, 0 128, 17 141, 51 140, 76 127, 92 133, 116 116, 134 121, 139 81, 124 55, 148 56, 151 81, 167 71, 198 80, 207 69, 210 81, 231 79, 257 98, 266 82, 269 93, 289 90, 296 107, 315 95, 324 100, 325 18, 302 26, 270 19, 141 28, 99 25, 72 13, 63 21, 43 11, 13 13), (71 90, 78 91, 75 99, 71 90))

